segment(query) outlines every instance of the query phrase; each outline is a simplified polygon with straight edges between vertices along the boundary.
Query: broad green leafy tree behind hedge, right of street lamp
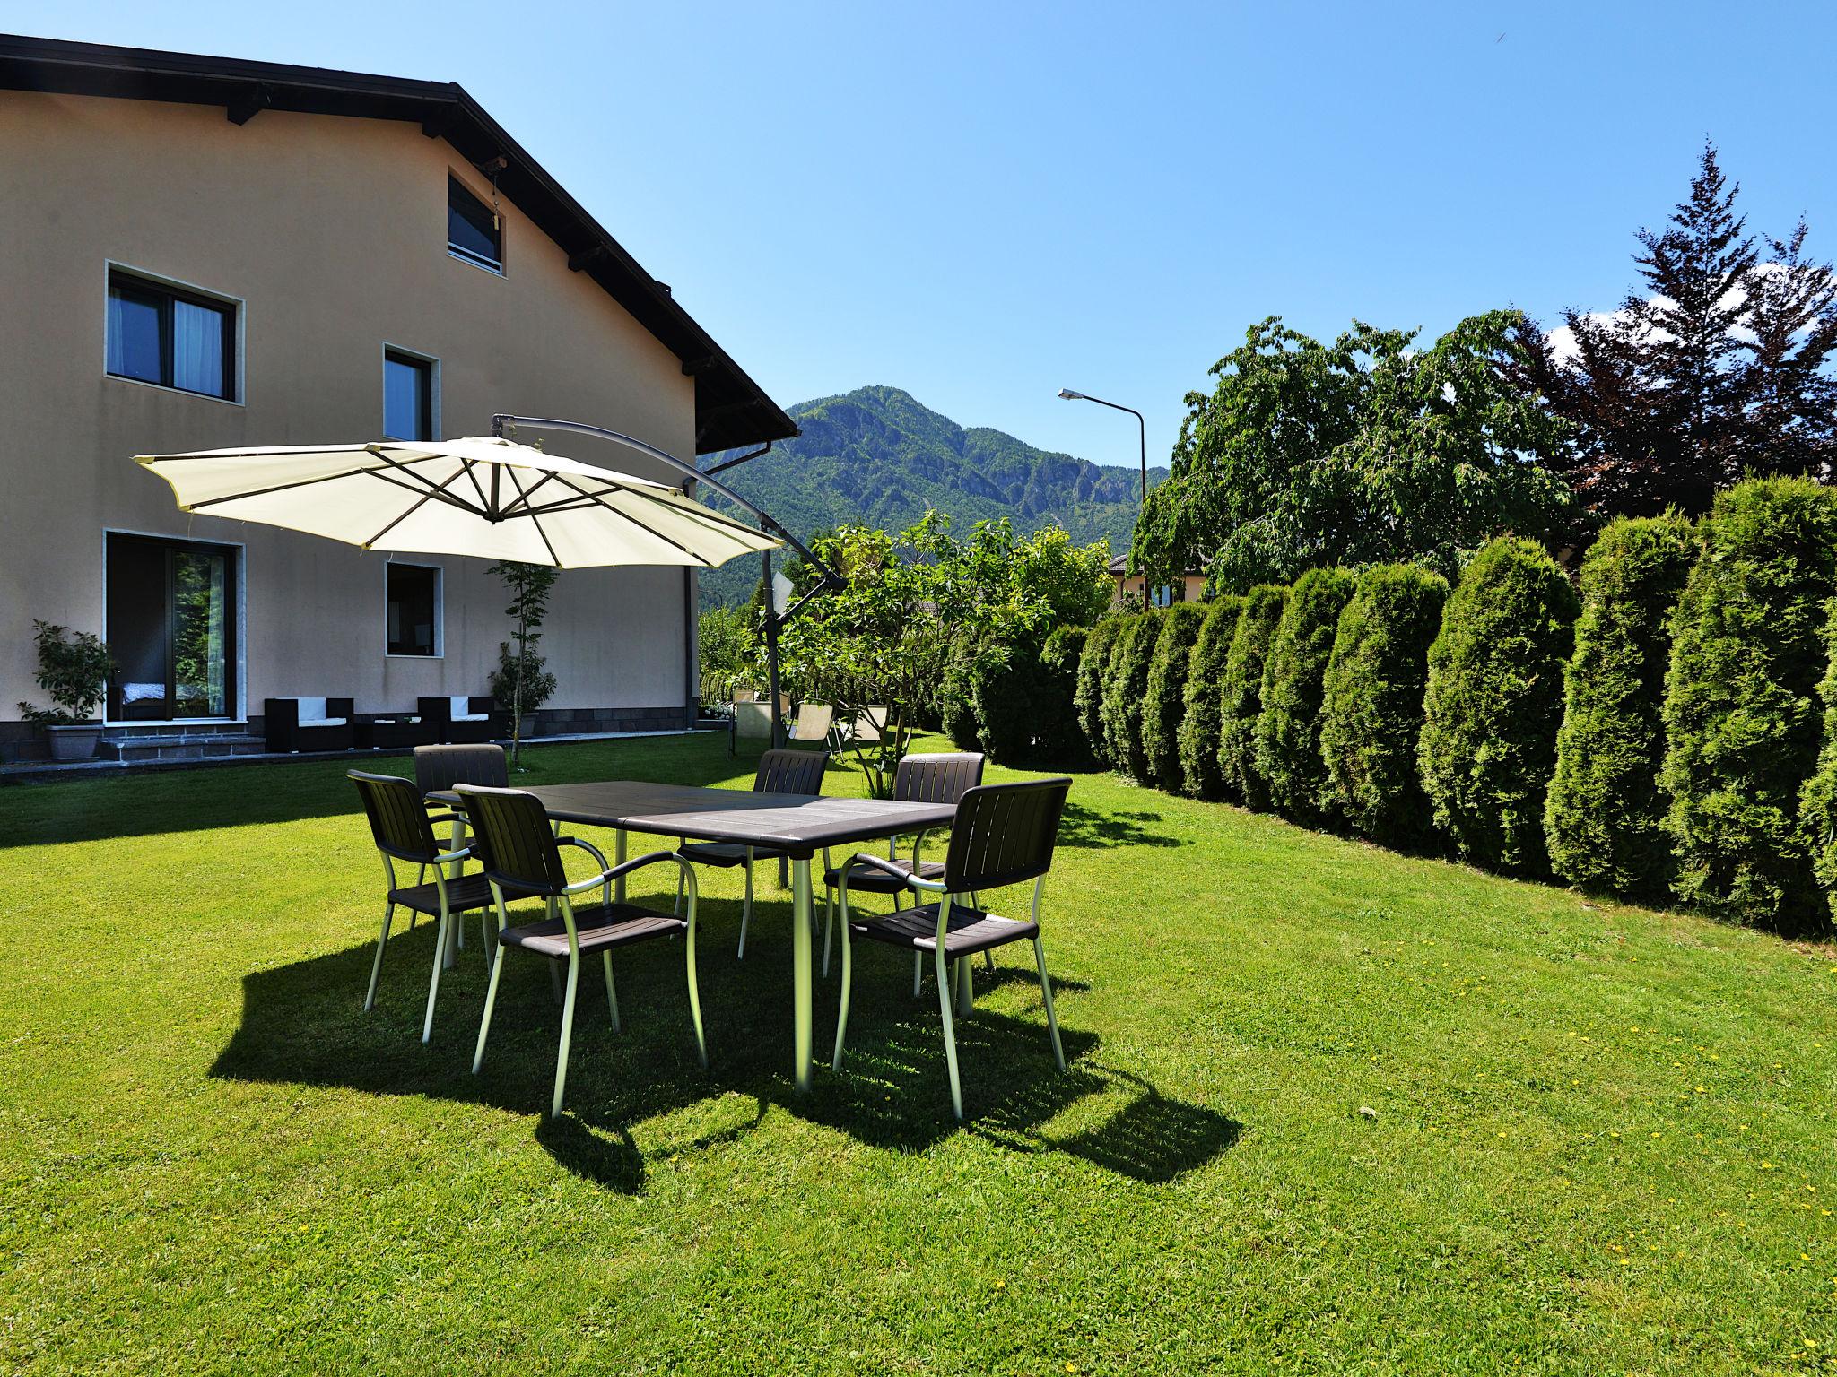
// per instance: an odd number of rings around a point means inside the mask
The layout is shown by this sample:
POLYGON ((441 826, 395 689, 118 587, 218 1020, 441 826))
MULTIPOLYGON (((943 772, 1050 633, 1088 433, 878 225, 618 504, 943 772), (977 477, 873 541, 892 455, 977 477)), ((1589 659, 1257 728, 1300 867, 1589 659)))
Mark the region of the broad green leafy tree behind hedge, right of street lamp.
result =
POLYGON ((1132 560, 1150 582, 1211 560, 1214 591, 1323 565, 1444 571, 1501 532, 1554 542, 1574 520, 1547 466, 1567 426, 1527 386, 1523 316, 1471 316, 1429 349, 1356 325, 1332 345, 1264 321, 1189 397, 1172 477, 1132 560))

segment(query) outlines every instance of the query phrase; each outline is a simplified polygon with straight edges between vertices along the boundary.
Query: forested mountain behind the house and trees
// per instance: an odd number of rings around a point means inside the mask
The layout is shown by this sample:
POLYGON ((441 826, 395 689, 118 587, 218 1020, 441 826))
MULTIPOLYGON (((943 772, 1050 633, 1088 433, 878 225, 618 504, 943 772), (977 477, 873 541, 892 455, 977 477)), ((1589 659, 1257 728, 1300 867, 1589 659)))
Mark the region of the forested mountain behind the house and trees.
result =
MULTIPOLYGON (((1108 536, 1122 553, 1135 529, 1139 468, 1099 466, 999 430, 959 426, 898 387, 821 397, 790 408, 790 417, 803 435, 720 481, 801 540, 843 523, 898 531, 928 507, 946 512, 959 536, 1007 516, 1021 534, 1056 521, 1080 543, 1108 536)), ((727 457, 711 455, 704 468, 727 457)), ((1148 470, 1150 483, 1163 477, 1165 468, 1148 470)), ((744 602, 757 582, 757 560, 733 560, 702 575, 702 602, 744 602)))

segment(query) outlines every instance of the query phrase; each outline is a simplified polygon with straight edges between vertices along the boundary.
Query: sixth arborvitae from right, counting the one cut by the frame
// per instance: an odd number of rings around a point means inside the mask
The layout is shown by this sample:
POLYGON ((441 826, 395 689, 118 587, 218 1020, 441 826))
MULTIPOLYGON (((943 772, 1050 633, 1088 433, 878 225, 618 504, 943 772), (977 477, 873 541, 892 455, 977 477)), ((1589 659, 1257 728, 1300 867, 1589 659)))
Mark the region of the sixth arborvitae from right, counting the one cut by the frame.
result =
POLYGON ((1269 786, 1269 802, 1302 823, 1319 821, 1330 802, 1321 760, 1321 681, 1356 582, 1348 569, 1310 569, 1297 578, 1264 665, 1257 771, 1269 786))

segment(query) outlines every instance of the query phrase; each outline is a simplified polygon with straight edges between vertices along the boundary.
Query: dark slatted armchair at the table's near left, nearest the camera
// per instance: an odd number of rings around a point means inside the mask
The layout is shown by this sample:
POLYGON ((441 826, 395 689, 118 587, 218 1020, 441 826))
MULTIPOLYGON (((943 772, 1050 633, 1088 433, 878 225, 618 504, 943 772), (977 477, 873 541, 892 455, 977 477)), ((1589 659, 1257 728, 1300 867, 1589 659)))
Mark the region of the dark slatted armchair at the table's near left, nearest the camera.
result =
MULTIPOLYGON (((573 1041, 575 997, 580 986, 582 955, 599 953, 606 977, 606 1008, 612 1030, 619 1032, 619 990, 612 979, 614 947, 628 947, 663 936, 687 938, 689 1017, 694 1023, 696 1054, 707 1067, 707 1039, 702 1032, 702 997, 694 979, 696 881, 689 863, 671 852, 650 852, 623 865, 608 865, 604 854, 586 841, 557 837, 542 800, 522 789, 483 789, 476 784, 457 788, 461 806, 472 821, 472 830, 485 843, 490 898, 498 912, 498 946, 568 962, 566 995, 562 1001, 562 1037, 555 1056, 555 1096, 549 1116, 562 1113, 568 1091, 568 1047, 573 1041), (579 846, 599 863, 599 874, 568 883, 562 870, 562 845, 579 846), (639 903, 614 903, 612 881, 641 870, 647 865, 672 861, 682 868, 689 887, 689 916, 647 909, 639 903), (601 901, 575 907, 575 896, 601 890, 601 901), (538 922, 511 925, 505 896, 540 898, 544 916, 538 922)), ((498 1004, 498 980, 503 977, 503 953, 490 966, 490 984, 485 988, 485 1017, 478 1024, 478 1048, 472 1054, 472 1074, 485 1063, 485 1039, 490 1036, 490 1015, 498 1004)))

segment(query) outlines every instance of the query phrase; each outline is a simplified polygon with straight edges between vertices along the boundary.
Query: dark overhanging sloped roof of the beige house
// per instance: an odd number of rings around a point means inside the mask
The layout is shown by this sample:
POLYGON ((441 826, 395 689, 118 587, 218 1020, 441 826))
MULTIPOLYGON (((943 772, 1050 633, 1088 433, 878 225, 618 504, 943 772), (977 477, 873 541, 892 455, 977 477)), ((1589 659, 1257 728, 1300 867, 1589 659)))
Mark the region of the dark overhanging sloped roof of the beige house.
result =
POLYGON ((671 288, 645 272, 457 83, 0 35, 0 90, 220 105, 233 125, 263 110, 400 119, 446 140, 472 165, 502 156, 498 189, 568 250, 569 268, 599 283, 694 378, 696 453, 797 433, 797 422, 676 305, 671 288))

